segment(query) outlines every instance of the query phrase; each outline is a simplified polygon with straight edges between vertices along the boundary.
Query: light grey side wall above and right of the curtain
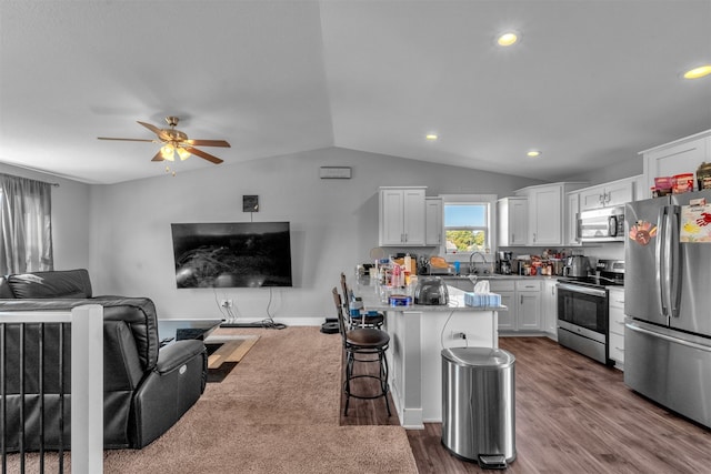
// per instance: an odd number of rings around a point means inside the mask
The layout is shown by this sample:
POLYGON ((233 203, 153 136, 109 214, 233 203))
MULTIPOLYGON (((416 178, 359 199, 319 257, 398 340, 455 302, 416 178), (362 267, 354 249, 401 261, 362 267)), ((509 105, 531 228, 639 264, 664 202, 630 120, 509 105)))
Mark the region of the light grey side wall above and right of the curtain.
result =
POLYGON ((58 183, 52 186, 54 269, 89 266, 89 184, 0 163, 0 173, 58 183))

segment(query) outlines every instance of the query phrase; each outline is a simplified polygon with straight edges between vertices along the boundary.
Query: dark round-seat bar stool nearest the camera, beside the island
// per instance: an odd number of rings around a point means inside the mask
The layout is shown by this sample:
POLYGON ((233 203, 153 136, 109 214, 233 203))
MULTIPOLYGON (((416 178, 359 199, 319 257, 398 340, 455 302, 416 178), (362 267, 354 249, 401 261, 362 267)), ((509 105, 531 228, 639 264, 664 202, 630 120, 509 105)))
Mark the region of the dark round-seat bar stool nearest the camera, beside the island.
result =
POLYGON ((333 288, 332 292, 333 303, 336 304, 336 312, 338 314, 339 330, 341 339, 343 340, 343 350, 346 351, 347 357, 346 382, 343 383, 343 392, 346 393, 346 409, 343 410, 343 415, 348 416, 348 406, 350 404, 351 396, 353 399, 361 400, 374 400, 382 396, 385 399, 385 407, 388 409, 388 416, 390 416, 390 402, 388 401, 390 385, 388 384, 388 360, 385 357, 385 351, 390 344, 390 336, 387 332, 373 327, 349 329, 346 315, 343 314, 341 296, 338 294, 338 290, 336 288, 333 288), (372 357, 373 355, 375 355, 375 357, 372 357), (378 375, 353 375, 353 365, 356 362, 378 363, 378 375), (375 379, 379 382, 380 390, 378 393, 373 394, 356 394, 351 391, 351 381, 356 379, 375 379))

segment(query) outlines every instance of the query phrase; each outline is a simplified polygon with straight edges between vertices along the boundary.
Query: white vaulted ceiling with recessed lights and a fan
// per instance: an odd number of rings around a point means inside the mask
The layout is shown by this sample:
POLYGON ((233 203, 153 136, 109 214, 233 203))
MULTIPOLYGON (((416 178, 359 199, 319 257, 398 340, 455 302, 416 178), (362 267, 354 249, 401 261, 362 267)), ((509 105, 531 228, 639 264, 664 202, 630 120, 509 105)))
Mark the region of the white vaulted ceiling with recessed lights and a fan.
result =
POLYGON ((711 129, 711 77, 680 79, 710 24, 711 0, 0 0, 0 162, 160 175, 157 144, 97 137, 176 114, 221 167, 341 147, 557 180, 711 129))

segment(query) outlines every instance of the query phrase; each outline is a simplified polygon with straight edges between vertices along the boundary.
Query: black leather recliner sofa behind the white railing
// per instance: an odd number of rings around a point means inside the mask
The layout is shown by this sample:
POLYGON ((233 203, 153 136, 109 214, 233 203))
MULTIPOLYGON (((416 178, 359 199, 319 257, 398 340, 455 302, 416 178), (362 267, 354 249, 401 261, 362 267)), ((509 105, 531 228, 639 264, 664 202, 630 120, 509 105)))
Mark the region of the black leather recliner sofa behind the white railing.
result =
MULTIPOLYGON (((202 341, 178 341, 160 347, 153 302, 147 297, 92 297, 86 270, 36 272, 0 279, 0 312, 71 310, 82 304, 103 306, 103 443, 106 448, 141 448, 168 431, 200 397, 206 387, 208 355, 202 341)), ((0 316, 1 322, 1 316, 0 316)), ((60 430, 60 380, 70 391, 71 345, 60 356, 60 332, 71 340, 68 324, 46 324, 43 395, 39 394, 40 325, 24 326, 24 394, 20 395, 21 327, 4 329, 6 448, 20 450, 21 403, 24 399, 24 450, 40 448, 40 412, 44 416, 44 450, 70 447, 70 396, 64 396, 60 430), (43 399, 43 410, 40 410, 43 399)), ((0 407, 1 410, 1 407, 0 407)), ((0 433, 1 435, 1 433, 0 433)))

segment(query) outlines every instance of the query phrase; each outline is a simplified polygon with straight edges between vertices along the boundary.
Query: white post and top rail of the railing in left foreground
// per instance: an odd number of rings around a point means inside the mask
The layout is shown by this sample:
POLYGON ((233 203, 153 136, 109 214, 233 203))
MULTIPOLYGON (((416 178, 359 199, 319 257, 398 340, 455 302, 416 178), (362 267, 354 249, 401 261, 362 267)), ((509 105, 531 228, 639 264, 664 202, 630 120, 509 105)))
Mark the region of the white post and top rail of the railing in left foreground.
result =
POLYGON ((71 324, 71 470, 103 472, 103 306, 0 312, 0 324, 71 324))

